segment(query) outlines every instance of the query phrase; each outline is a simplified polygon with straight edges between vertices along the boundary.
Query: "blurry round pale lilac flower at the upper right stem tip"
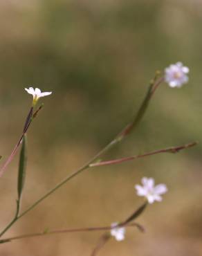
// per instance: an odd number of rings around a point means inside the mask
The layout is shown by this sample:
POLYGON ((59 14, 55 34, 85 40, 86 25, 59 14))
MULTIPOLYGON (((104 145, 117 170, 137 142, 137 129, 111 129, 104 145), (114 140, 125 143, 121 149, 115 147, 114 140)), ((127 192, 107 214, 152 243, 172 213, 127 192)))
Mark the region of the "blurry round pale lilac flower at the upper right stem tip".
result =
POLYGON ((188 82, 189 77, 187 77, 187 73, 189 72, 189 68, 187 68, 187 66, 183 66, 181 62, 172 64, 165 68, 165 82, 167 82, 170 87, 179 88, 188 82))

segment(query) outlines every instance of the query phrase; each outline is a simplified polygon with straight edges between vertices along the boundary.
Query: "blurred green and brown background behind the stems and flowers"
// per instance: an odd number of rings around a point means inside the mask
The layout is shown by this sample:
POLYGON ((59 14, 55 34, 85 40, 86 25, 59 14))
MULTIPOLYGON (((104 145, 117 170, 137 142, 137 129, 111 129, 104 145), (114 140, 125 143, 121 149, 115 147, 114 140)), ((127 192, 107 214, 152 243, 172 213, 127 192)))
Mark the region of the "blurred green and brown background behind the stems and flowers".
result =
MULTIPOLYGON (((202 255, 202 1, 1 0, 0 21, 3 161, 31 104, 24 88, 53 91, 28 132, 23 209, 109 143, 131 120, 154 72, 178 61, 190 67, 190 82, 160 86, 136 132, 104 159, 199 141, 179 154, 86 170, 4 237, 125 219, 143 202, 134 185, 152 176, 169 193, 138 219, 147 232, 128 229, 125 241, 111 239, 100 256, 202 255)), ((18 156, 0 181, 1 228, 15 212, 17 165, 18 156)), ((0 255, 88 256, 100 235, 24 239, 2 244, 0 255)))

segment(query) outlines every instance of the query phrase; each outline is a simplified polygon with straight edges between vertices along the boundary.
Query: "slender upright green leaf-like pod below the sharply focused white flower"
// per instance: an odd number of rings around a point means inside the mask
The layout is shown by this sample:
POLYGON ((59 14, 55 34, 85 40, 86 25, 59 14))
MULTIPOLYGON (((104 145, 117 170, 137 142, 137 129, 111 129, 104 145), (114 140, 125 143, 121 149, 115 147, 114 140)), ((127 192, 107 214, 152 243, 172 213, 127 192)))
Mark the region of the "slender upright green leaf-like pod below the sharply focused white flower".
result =
POLYGON ((19 172, 17 181, 18 200, 21 199, 21 194, 24 188, 26 178, 26 163, 27 163, 27 138, 26 134, 22 138, 21 152, 19 156, 19 172))

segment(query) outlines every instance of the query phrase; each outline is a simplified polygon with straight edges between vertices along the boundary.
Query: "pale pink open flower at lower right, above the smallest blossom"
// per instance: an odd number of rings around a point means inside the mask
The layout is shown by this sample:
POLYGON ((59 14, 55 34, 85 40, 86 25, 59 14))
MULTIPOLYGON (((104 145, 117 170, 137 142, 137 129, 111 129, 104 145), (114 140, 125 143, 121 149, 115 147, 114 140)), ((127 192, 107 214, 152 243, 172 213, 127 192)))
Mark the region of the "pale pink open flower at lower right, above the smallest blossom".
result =
POLYGON ((138 196, 145 196, 149 203, 154 203, 154 201, 162 201, 161 194, 167 192, 167 187, 165 184, 159 184, 154 187, 154 179, 143 178, 143 186, 135 185, 138 196))

